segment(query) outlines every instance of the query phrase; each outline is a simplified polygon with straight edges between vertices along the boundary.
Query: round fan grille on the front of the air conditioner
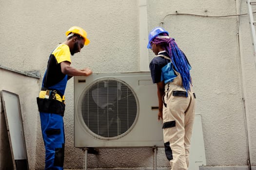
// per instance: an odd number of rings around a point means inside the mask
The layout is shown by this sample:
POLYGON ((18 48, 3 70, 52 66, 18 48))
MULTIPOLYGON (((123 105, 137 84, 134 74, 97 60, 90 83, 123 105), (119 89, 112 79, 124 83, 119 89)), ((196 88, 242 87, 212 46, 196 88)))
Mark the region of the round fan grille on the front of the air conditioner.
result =
POLYGON ((79 112, 91 132, 112 138, 128 133, 136 120, 138 106, 133 91, 126 83, 104 78, 83 91, 79 112))

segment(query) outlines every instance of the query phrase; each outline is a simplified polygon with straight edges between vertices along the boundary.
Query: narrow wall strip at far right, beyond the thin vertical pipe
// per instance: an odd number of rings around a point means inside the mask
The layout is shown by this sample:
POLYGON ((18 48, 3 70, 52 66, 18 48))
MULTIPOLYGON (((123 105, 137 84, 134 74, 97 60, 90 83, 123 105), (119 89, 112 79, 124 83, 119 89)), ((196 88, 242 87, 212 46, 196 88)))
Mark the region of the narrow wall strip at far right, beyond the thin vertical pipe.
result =
MULTIPOLYGON (((253 8, 256 11, 256 7, 253 8)), ((246 0, 241 1, 241 13, 247 13, 246 0)), ((254 19, 256 16, 254 14, 254 19)), ((240 18, 241 74, 248 121, 249 149, 251 164, 256 166, 256 63, 254 62, 253 46, 248 16, 240 18)))

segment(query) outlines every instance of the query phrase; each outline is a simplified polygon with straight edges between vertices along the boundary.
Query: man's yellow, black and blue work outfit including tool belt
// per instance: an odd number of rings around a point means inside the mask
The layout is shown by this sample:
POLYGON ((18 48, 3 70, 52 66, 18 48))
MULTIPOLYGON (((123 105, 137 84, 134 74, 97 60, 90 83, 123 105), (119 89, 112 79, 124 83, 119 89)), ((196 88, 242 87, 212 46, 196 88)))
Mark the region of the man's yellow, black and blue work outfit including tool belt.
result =
POLYGON ((64 163, 64 92, 68 76, 61 72, 60 63, 70 60, 70 50, 60 44, 51 53, 39 98, 37 98, 41 131, 45 146, 45 170, 63 170, 64 163))

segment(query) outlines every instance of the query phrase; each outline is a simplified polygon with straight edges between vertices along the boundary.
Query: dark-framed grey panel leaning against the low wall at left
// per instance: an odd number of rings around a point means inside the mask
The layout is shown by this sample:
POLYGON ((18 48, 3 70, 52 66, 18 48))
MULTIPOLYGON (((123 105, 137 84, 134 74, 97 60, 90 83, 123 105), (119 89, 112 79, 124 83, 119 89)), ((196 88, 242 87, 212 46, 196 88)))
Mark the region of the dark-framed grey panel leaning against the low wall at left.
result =
POLYGON ((17 170, 28 170, 19 96, 15 93, 1 90, 1 99, 3 103, 14 168, 17 170))

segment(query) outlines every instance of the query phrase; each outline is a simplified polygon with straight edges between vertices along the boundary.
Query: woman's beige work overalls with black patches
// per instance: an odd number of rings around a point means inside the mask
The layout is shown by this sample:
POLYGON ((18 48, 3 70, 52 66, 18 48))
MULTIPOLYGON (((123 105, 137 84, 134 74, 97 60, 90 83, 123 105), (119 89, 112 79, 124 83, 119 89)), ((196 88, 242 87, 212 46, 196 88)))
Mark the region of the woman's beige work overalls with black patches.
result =
POLYGON ((195 119, 195 96, 192 89, 182 86, 180 74, 165 85, 163 97, 163 137, 165 153, 172 170, 187 170, 193 123, 195 119))

